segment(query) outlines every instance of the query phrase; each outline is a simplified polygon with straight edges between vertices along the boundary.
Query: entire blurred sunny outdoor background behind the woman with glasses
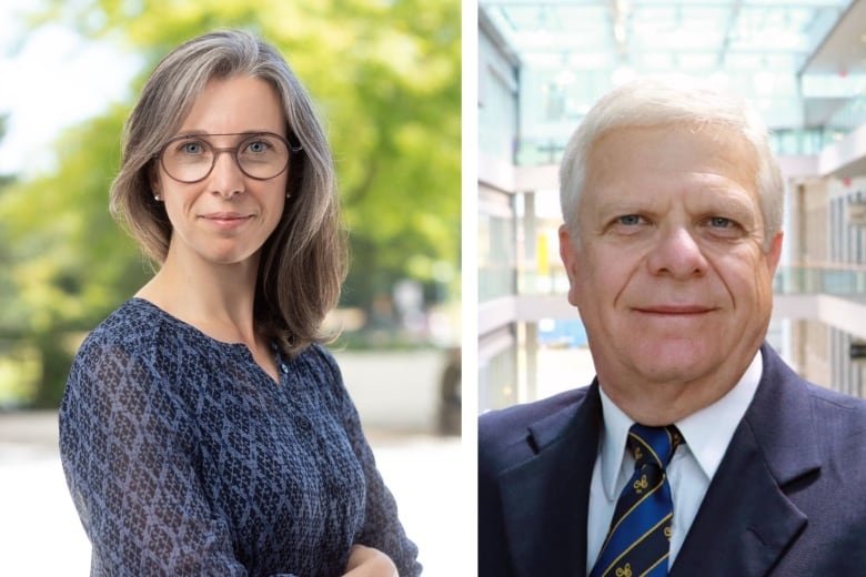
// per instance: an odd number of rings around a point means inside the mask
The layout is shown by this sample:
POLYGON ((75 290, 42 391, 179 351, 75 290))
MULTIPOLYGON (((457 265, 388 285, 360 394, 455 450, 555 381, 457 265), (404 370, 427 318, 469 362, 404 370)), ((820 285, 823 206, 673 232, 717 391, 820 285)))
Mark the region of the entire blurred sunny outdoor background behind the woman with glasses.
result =
POLYGON ((331 348, 422 564, 460 575, 459 0, 0 2, 0 574, 88 573, 56 409, 152 272, 108 212, 121 128, 157 61, 222 27, 274 43, 319 107, 352 253, 331 348))

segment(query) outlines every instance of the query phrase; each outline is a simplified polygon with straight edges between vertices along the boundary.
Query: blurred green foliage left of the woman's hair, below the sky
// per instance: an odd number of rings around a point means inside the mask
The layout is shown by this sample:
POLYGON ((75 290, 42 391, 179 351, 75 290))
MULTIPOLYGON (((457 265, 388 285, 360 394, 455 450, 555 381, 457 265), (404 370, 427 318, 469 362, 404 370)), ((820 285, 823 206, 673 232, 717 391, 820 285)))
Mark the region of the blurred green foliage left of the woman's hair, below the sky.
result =
POLYGON ((128 298, 148 274, 137 246, 108 213, 108 185, 119 162, 114 109, 64 133, 57 168, 16 182, 0 196, 0 222, 14 288, 0 326, 39 351, 37 406, 62 393, 75 335, 128 298))

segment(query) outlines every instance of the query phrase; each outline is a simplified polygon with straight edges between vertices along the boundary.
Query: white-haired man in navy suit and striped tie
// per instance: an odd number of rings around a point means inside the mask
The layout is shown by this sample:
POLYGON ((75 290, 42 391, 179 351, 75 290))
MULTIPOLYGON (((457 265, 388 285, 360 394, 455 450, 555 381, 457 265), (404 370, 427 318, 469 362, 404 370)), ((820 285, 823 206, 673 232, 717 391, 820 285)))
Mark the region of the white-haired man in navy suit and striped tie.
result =
POLYGON ((866 575, 866 403, 764 344, 783 183, 754 112, 638 80, 560 175, 597 376, 481 417, 479 574, 866 575))

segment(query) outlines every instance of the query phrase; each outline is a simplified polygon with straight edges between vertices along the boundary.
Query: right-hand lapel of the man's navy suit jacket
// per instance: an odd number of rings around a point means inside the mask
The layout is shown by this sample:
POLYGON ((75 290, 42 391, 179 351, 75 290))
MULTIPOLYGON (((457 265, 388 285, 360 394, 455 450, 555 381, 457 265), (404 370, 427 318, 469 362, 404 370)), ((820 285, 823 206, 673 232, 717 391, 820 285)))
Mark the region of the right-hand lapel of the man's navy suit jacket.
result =
POLYGON ((806 516, 786 486, 819 469, 808 392, 768 347, 764 372, 672 567, 678 576, 764 576, 806 516))

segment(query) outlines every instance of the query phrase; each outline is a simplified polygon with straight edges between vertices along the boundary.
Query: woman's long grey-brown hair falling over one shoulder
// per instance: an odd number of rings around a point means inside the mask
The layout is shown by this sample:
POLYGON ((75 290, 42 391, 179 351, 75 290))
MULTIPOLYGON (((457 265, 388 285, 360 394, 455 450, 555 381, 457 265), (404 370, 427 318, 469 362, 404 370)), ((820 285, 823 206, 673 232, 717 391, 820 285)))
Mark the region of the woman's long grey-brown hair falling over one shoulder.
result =
POLYGON ((340 298, 346 271, 336 179, 322 123, 306 91, 279 51, 244 31, 220 30, 172 50, 144 84, 123 132, 111 213, 147 256, 165 260, 171 223, 151 183, 158 155, 175 135, 211 79, 253 77, 269 82, 285 113, 286 134, 303 150, 289 168, 283 214, 262 247, 255 325, 286 354, 324 340, 321 325, 340 298))

